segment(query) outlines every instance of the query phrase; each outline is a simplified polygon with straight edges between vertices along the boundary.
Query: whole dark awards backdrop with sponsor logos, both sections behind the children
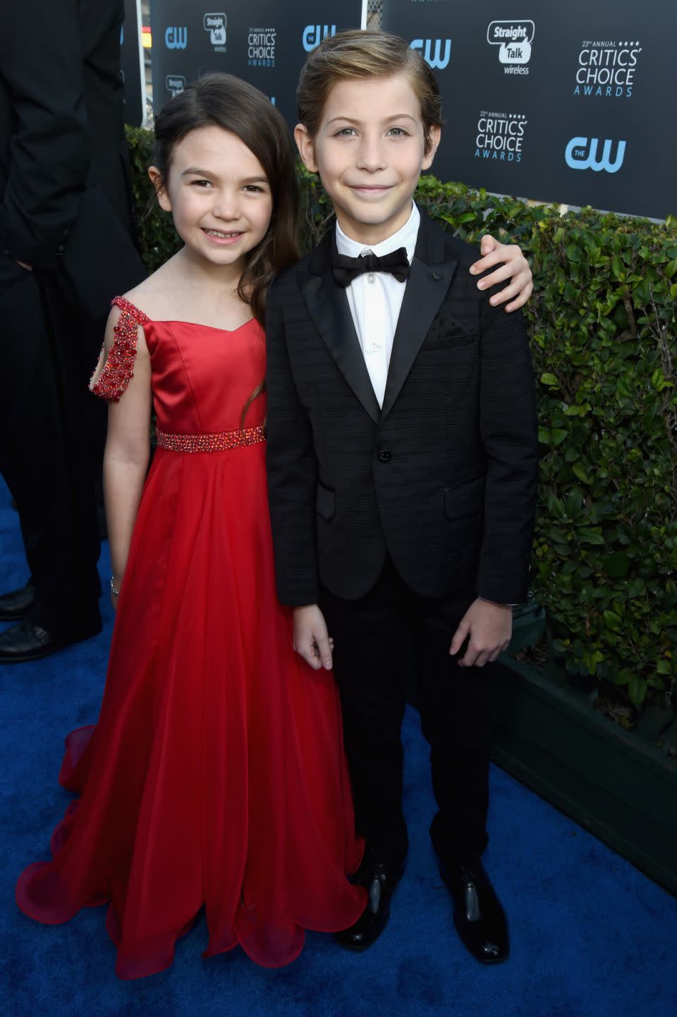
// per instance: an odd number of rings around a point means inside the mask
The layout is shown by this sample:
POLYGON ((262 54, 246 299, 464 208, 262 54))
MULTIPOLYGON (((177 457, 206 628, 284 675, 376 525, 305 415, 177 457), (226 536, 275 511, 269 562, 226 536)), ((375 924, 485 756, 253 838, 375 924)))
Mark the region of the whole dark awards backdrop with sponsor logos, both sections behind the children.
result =
MULTIPOLYGON (((156 110, 200 73, 225 70, 261 88, 292 126, 306 53, 363 13, 362 0, 204 2, 152 0, 156 110)), ((382 27, 439 79, 436 176, 677 214, 677 0, 382 0, 382 27)))

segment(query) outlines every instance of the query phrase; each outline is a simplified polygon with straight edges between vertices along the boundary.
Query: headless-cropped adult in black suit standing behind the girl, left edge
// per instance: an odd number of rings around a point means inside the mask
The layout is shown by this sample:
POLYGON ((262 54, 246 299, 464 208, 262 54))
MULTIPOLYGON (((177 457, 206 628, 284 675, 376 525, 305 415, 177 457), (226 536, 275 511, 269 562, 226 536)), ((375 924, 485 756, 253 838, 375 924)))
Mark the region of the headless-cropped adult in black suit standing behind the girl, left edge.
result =
POLYGON ((0 10, 0 471, 32 578, 0 597, 0 663, 101 631, 87 392, 110 300, 145 271, 130 237, 123 0, 0 10))

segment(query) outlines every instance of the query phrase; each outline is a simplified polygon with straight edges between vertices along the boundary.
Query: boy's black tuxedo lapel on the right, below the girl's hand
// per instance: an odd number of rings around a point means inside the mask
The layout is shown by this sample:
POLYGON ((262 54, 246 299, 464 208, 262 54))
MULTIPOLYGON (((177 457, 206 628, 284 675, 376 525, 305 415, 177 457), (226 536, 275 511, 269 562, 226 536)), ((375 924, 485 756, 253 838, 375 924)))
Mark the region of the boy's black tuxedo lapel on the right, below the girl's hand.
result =
POLYGON ((445 260, 442 229, 422 213, 416 250, 392 341, 381 423, 392 409, 446 296, 456 263, 455 260, 445 260))

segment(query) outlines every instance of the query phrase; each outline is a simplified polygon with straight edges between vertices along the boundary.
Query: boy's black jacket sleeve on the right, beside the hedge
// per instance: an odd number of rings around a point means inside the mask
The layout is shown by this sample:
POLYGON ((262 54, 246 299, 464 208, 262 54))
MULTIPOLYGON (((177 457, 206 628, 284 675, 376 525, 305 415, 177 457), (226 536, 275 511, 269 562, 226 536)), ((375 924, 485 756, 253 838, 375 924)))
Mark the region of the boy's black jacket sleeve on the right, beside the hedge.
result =
POLYGON ((480 305, 480 426, 488 471, 478 593, 518 603, 527 599, 538 487, 534 369, 521 311, 506 314, 487 300, 480 305))

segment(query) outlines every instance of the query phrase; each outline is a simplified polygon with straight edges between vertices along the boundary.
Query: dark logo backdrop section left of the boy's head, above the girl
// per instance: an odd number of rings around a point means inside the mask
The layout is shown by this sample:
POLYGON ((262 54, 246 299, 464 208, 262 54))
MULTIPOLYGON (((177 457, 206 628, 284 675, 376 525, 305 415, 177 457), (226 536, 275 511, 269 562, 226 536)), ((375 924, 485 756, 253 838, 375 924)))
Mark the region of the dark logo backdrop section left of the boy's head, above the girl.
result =
POLYGON ((156 112, 209 70, 237 74, 270 97, 290 126, 306 52, 327 34, 360 25, 362 0, 152 0, 156 112))

